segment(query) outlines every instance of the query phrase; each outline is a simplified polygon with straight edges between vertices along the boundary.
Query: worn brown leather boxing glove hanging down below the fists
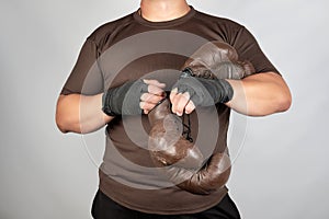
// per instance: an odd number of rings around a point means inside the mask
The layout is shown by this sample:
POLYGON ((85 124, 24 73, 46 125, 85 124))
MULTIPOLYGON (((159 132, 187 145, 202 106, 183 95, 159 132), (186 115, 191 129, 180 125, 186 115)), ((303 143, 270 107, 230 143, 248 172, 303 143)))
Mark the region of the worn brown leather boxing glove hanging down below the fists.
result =
POLYGON ((148 140, 151 159, 172 183, 202 195, 226 184, 230 174, 229 157, 217 152, 205 160, 200 149, 182 136, 181 120, 171 113, 168 99, 148 114, 148 119, 151 126, 148 140))

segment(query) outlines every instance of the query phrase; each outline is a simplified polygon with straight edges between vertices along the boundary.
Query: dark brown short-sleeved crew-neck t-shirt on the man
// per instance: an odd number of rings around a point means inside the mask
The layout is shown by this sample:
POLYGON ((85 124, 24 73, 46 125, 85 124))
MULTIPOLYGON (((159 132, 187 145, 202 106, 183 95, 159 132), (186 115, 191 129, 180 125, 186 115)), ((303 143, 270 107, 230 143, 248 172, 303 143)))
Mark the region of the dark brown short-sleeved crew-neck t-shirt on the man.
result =
MULTIPOLYGON (((257 73, 277 72, 254 37, 230 20, 193 8, 167 22, 149 22, 135 12, 100 26, 87 38, 61 94, 93 95, 139 78, 166 82, 170 91, 188 57, 209 41, 234 46, 239 59, 253 64, 257 73)), ((205 157, 226 150, 229 113, 217 104, 191 114, 192 138, 205 157)), ((191 194, 154 166, 147 150, 149 129, 147 115, 116 117, 107 125, 100 189, 121 205, 151 214, 192 214, 218 204, 226 187, 211 195, 191 194)))

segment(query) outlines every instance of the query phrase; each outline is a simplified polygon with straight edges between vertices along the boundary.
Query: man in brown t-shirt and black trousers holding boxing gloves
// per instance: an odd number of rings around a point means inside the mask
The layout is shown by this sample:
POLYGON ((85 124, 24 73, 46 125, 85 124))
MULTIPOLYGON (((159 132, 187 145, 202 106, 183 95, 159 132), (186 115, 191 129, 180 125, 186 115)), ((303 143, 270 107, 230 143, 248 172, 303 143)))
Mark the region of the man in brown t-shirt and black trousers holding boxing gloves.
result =
POLYGON ((166 91, 173 114, 191 115, 194 140, 208 135, 193 126, 202 128, 197 117, 206 113, 196 112, 203 105, 193 99, 194 88, 180 89, 189 81, 178 80, 178 72, 189 55, 212 41, 229 44, 256 69, 242 80, 222 80, 230 92, 205 82, 209 93, 220 93, 225 101, 214 99, 218 136, 207 136, 202 145, 223 152, 229 108, 265 116, 291 105, 286 83, 243 26, 201 13, 185 0, 141 0, 138 11, 102 25, 86 41, 58 99, 56 122, 63 132, 78 134, 107 124, 94 218, 240 218, 225 186, 209 195, 181 189, 163 180, 147 151, 147 115, 166 91))

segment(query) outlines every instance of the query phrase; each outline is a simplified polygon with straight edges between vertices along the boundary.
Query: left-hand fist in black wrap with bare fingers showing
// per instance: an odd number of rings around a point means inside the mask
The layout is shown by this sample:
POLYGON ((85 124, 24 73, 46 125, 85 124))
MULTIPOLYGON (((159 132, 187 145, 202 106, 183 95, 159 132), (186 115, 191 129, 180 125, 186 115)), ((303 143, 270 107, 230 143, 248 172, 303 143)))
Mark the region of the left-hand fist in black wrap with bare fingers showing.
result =
POLYGON ((163 99, 166 84, 157 80, 128 81, 103 94, 103 112, 110 116, 148 113, 163 99))

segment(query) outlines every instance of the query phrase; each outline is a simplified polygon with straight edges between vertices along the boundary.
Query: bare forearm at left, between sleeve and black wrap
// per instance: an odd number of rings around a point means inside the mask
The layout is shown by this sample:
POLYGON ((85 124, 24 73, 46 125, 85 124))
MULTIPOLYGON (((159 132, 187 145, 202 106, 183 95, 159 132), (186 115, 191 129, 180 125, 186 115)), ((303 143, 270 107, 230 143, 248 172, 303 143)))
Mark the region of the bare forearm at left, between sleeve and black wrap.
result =
POLYGON ((102 111, 102 94, 60 95, 57 101, 56 124, 63 132, 92 132, 112 118, 102 111))

